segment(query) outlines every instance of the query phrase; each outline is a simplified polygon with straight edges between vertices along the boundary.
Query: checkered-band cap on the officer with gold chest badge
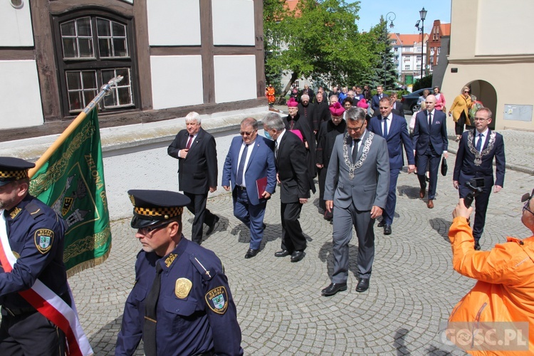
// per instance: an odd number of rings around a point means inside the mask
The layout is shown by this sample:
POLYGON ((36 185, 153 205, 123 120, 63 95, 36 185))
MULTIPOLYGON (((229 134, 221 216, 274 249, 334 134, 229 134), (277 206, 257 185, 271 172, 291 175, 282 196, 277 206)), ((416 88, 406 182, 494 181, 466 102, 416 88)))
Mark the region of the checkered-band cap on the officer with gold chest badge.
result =
POLYGON ((128 191, 134 206, 131 226, 134 229, 155 226, 182 215, 191 200, 184 194, 168 190, 132 189, 128 191))

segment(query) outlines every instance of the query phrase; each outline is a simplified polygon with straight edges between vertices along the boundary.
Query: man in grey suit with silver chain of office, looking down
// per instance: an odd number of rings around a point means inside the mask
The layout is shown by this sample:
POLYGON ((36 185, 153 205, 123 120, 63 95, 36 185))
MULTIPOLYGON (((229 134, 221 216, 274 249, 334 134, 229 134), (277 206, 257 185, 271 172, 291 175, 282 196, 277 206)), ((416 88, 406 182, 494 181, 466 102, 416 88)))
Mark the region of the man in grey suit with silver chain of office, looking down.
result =
POLYGON ((369 288, 375 258, 375 219, 382 215, 389 191, 389 157, 383 137, 367 131, 365 110, 347 111, 347 132, 335 139, 325 184, 326 209, 333 217, 334 273, 321 293, 347 290, 352 224, 358 237, 357 292, 369 288), (337 187, 335 186, 337 182, 337 187))

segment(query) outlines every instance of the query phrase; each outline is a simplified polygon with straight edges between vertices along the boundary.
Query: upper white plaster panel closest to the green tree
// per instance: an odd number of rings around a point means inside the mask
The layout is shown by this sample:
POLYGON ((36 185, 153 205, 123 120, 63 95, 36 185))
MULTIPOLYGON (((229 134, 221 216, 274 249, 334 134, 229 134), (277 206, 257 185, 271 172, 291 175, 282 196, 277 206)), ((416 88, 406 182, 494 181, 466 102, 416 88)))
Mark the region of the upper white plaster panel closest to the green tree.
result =
POLYGON ((254 46, 254 2, 211 0, 214 45, 254 46))

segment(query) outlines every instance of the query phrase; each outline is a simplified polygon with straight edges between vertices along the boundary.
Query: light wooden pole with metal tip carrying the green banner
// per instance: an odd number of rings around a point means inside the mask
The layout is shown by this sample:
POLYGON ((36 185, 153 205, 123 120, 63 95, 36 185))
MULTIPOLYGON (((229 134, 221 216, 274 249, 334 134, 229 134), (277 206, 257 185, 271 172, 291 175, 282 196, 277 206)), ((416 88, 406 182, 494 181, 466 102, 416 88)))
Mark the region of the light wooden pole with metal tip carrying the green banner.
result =
POLYGON ((48 162, 48 159, 50 159, 50 157, 53 155, 54 152, 56 152, 58 147, 60 147, 63 142, 67 140, 67 137, 76 129, 76 127, 78 127, 80 123, 83 122, 85 117, 87 117, 88 113, 91 112, 91 110, 93 110, 95 106, 98 105, 98 103, 100 103, 100 101, 102 101, 102 99, 106 95, 109 95, 111 93, 111 87, 116 86, 117 83, 120 82, 120 80, 122 80, 122 75, 117 75, 117 77, 112 78, 108 82, 108 84, 102 85, 102 88, 100 88, 100 92, 95 96, 95 98, 91 100, 91 102, 87 106, 85 106, 85 108, 83 108, 83 111, 80 112, 80 114, 73 120, 73 122, 70 122, 70 125, 68 125, 68 127, 65 129, 65 131, 63 131, 61 135, 59 135, 57 140, 53 142, 50 147, 48 147, 48 150, 46 150, 43 155, 39 159, 37 159, 37 161, 35 162, 35 167, 28 170, 28 177, 30 177, 30 179, 31 177, 33 177, 33 174, 36 174, 36 172, 41 169, 41 167, 43 167, 43 164, 48 162))

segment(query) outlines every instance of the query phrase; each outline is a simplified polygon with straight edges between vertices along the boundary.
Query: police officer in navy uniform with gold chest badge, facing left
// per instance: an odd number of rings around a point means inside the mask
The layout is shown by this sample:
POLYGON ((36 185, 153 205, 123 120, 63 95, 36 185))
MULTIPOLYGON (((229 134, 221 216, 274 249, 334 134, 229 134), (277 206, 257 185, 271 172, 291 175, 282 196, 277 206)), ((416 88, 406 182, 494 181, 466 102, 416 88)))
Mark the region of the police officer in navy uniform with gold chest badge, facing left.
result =
POLYGON ((125 304, 115 355, 243 355, 236 305, 221 260, 182 235, 190 200, 162 190, 130 190, 131 226, 142 251, 125 304))

